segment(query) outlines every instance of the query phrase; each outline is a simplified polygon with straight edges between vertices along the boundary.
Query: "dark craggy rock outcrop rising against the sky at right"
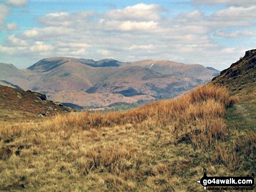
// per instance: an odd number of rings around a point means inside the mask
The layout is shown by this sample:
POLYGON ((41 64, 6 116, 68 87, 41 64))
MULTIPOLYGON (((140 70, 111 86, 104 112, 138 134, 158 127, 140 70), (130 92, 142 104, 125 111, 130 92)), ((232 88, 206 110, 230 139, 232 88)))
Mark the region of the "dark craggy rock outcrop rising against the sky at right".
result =
POLYGON ((212 79, 213 84, 224 85, 232 94, 256 87, 256 50, 246 51, 244 57, 212 79))

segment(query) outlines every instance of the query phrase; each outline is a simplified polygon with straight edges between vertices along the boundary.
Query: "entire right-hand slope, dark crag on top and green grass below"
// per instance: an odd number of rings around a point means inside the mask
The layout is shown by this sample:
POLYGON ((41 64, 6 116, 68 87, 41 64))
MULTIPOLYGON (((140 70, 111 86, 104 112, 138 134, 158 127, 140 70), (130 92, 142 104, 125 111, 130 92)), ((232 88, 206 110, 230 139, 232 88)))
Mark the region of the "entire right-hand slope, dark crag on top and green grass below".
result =
POLYGON ((256 50, 246 51, 246 55, 231 67, 215 77, 212 84, 227 88, 236 96, 236 104, 229 108, 225 123, 230 133, 230 145, 235 146, 241 159, 240 166, 249 174, 256 172, 256 148, 250 146, 256 141, 256 50), (251 143, 248 138, 253 139, 251 143), (238 147, 237 145, 240 145, 238 147), (250 149, 249 149, 250 148, 250 149))

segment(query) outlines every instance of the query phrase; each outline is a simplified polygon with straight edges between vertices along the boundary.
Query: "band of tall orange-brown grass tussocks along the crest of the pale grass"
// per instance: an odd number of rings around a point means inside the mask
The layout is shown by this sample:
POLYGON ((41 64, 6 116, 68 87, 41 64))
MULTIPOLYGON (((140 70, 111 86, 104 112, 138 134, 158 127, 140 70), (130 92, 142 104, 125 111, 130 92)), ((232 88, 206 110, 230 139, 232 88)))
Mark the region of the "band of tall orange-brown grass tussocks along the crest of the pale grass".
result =
POLYGON ((197 130, 190 135, 194 144, 198 139, 205 145, 211 145, 212 138, 224 139, 227 135, 225 108, 235 100, 229 97, 224 88, 206 85, 191 91, 188 95, 171 101, 159 101, 130 111, 102 113, 83 112, 79 115, 61 115, 50 122, 50 127, 79 127, 83 130, 113 127, 126 124, 148 124, 154 127, 168 128, 169 131, 182 135, 197 130))

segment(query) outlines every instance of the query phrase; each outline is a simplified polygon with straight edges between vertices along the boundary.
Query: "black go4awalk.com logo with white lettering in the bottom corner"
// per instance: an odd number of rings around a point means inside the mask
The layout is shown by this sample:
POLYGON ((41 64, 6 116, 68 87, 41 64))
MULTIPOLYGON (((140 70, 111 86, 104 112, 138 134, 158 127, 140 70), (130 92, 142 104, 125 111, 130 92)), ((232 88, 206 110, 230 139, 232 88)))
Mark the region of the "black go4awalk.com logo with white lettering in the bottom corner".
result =
POLYGON ((246 191, 252 190, 254 185, 254 175, 248 177, 208 177, 204 168, 204 176, 197 181, 208 190, 229 190, 246 191))

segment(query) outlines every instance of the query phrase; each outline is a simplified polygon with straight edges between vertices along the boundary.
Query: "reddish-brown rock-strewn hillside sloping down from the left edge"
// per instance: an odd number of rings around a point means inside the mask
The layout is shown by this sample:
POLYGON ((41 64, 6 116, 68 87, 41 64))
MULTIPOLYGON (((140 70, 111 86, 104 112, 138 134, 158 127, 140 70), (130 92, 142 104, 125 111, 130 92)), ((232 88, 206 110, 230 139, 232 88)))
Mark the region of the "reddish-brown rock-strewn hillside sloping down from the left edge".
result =
POLYGON ((44 94, 0 85, 0 119, 37 118, 69 111, 44 94))

